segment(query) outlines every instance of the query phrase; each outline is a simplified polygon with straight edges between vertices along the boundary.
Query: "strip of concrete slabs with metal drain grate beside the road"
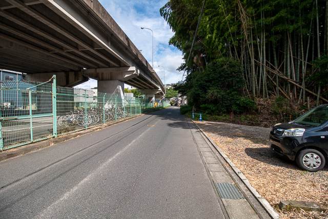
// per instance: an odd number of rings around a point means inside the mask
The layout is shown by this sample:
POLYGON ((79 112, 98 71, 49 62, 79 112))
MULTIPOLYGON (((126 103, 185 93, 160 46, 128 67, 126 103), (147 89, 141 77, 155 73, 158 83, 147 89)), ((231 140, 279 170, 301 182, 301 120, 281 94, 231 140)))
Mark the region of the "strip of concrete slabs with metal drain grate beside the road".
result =
POLYGON ((258 203, 254 207, 257 208, 259 214, 253 209, 249 200, 253 204, 254 197, 248 197, 250 196, 248 189, 237 186, 231 172, 229 173, 227 168, 222 165, 222 161, 219 159, 220 155, 211 142, 207 140, 207 137, 191 120, 187 119, 187 122, 198 151, 202 156, 203 163, 213 181, 213 186, 218 191, 219 200, 227 211, 229 218, 276 218, 275 215, 270 215, 263 209, 258 210, 262 207, 258 203))

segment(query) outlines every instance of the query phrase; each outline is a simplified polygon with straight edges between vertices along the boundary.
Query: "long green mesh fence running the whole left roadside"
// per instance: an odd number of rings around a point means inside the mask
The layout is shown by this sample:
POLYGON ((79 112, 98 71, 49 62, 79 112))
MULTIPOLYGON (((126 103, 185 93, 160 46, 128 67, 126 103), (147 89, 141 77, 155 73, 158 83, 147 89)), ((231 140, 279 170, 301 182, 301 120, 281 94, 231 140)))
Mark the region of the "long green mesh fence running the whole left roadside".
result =
POLYGON ((48 82, 0 82, 0 150, 124 120, 169 106, 48 82))

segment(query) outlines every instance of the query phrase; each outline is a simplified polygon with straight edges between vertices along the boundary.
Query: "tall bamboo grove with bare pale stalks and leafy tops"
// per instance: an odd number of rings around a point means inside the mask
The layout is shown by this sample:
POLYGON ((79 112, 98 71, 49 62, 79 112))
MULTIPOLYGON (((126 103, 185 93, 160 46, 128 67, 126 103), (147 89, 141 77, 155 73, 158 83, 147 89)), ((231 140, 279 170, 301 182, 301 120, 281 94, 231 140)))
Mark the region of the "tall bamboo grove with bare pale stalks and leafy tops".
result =
POLYGON ((185 55, 179 70, 201 73, 222 57, 239 61, 244 96, 328 102, 328 1, 170 0, 160 9, 185 55), (189 58, 188 59, 188 57, 189 58))

